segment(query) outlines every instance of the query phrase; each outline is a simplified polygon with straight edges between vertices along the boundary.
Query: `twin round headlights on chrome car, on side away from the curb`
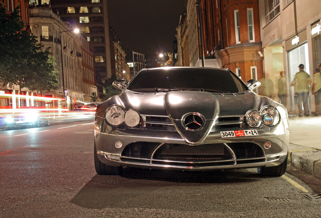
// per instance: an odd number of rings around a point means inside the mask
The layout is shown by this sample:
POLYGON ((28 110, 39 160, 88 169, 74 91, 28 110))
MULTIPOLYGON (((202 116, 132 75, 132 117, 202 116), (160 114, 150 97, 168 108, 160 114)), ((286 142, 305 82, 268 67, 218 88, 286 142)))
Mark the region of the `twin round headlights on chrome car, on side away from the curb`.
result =
POLYGON ((130 109, 127 112, 118 105, 112 105, 105 112, 106 121, 112 126, 119 126, 125 122, 128 127, 140 124, 140 115, 137 111, 130 109))

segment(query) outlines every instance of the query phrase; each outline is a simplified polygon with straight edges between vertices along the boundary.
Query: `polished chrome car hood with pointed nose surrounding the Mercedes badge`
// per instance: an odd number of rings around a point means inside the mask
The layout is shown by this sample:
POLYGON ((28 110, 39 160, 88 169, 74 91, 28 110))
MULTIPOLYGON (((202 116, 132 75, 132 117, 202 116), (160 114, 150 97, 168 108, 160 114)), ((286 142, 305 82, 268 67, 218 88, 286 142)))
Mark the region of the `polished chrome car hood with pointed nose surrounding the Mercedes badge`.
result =
POLYGON ((263 105, 274 103, 272 99, 251 91, 213 94, 202 91, 137 93, 125 90, 120 95, 99 104, 97 115, 104 117, 106 108, 118 104, 126 111, 133 108, 142 116, 168 116, 188 144, 200 144, 219 116, 244 116, 249 110, 259 110, 263 105), (203 116, 202 128, 198 130, 186 128, 183 118, 190 113, 203 116))

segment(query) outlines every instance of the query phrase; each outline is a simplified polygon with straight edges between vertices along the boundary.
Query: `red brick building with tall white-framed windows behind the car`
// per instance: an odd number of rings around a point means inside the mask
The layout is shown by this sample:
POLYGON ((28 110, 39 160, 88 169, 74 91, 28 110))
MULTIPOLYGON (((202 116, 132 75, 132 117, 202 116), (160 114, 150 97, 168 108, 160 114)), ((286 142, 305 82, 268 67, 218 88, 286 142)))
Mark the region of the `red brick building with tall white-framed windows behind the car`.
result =
POLYGON ((200 8, 205 59, 216 58, 245 82, 262 79, 258 1, 201 0, 200 8))

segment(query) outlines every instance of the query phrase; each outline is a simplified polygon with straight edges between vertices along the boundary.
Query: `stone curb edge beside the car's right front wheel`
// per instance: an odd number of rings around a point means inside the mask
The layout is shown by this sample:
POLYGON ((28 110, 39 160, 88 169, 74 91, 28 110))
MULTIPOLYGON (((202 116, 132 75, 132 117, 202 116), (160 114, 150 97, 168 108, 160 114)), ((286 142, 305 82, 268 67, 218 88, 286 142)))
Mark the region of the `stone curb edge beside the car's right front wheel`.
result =
POLYGON ((289 151, 289 154, 289 161, 293 167, 321 179, 321 150, 306 148, 289 151))

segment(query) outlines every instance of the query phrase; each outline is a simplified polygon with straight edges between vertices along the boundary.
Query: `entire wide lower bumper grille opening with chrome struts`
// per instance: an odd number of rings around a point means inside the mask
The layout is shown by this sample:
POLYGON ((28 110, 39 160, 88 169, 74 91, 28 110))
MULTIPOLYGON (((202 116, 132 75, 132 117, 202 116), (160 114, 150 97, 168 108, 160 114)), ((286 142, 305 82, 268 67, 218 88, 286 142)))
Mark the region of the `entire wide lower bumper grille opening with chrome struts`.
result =
POLYGON ((195 146, 134 142, 124 148, 121 160, 168 166, 201 167, 263 162, 265 155, 260 146, 251 142, 195 146))

